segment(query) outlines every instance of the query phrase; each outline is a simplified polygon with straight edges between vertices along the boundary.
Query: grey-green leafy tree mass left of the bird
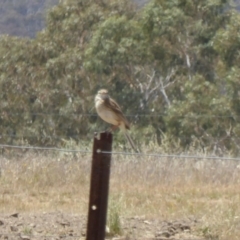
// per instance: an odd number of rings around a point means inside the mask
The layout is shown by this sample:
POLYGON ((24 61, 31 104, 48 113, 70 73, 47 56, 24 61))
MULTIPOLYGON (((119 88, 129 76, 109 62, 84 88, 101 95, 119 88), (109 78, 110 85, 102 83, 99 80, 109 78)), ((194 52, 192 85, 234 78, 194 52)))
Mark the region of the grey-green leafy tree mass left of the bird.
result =
POLYGON ((93 108, 96 77, 92 79, 83 68, 83 56, 99 21, 124 9, 117 2, 108 4, 105 9, 98 1, 64 1, 50 11, 48 27, 35 40, 0 39, 0 85, 6 93, 2 103, 7 106, 2 121, 8 125, 2 133, 11 142, 21 137, 31 144, 56 145, 92 135, 89 122, 96 117, 89 119, 88 113, 93 108), (18 94, 19 85, 24 96, 18 94))

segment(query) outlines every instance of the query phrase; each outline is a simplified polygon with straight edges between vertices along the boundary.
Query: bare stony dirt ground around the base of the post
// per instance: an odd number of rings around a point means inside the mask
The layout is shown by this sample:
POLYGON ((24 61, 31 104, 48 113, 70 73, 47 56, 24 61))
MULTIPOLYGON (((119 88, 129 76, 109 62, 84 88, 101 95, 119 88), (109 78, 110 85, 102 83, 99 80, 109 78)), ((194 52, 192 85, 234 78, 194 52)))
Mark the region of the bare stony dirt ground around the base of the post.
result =
MULTIPOLYGON (((73 240, 86 238, 87 217, 63 212, 0 215, 0 239, 73 240)), ((114 239, 203 240, 193 235, 195 219, 173 222, 132 217, 121 219, 122 236, 114 239)), ((107 237, 110 238, 110 237, 107 237)))

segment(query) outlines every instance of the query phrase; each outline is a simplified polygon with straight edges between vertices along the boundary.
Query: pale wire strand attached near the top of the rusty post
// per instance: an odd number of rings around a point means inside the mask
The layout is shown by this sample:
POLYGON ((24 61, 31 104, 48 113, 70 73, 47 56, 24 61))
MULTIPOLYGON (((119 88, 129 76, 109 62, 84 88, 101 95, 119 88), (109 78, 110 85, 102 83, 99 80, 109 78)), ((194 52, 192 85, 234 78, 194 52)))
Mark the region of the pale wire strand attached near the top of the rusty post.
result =
MULTIPOLYGON (((20 146, 0 144, 0 148, 13 148, 13 149, 31 149, 31 150, 46 150, 46 151, 59 151, 59 152, 72 152, 72 153, 93 153, 89 150, 77 150, 77 149, 65 149, 57 147, 39 147, 39 146, 20 146)), ((137 157, 157 157, 157 158, 183 158, 183 159, 209 159, 209 160, 233 160, 240 161, 240 158, 234 157, 219 157, 219 156, 199 156, 199 155, 185 155, 185 154, 160 154, 160 153, 144 153, 144 152, 108 152, 99 150, 98 153, 113 154, 113 155, 125 155, 125 156, 137 156, 137 157)))

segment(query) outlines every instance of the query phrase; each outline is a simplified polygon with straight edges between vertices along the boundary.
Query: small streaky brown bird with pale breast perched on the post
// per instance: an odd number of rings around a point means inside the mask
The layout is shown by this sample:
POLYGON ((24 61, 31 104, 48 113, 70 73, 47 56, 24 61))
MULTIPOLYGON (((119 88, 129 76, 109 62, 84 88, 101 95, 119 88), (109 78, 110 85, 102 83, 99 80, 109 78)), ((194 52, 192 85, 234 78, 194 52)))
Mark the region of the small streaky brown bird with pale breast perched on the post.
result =
POLYGON ((109 96, 108 90, 100 89, 97 92, 97 95, 95 96, 95 108, 99 117, 103 121, 112 125, 112 131, 118 127, 123 131, 133 150, 135 152, 138 152, 132 138, 127 132, 130 130, 130 124, 126 117, 123 115, 120 106, 109 96))

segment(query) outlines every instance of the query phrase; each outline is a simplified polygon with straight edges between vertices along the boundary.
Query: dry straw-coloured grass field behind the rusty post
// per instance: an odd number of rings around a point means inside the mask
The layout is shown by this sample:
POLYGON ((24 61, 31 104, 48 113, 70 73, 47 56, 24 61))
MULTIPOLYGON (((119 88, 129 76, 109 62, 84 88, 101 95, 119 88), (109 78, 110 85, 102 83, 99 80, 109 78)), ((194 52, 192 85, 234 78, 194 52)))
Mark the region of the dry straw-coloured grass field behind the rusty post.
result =
MULTIPOLYGON (((87 214, 91 154, 0 158, 0 212, 87 214)), ((240 236, 240 162, 113 156, 110 205, 122 216, 194 217, 206 239, 240 236)))

